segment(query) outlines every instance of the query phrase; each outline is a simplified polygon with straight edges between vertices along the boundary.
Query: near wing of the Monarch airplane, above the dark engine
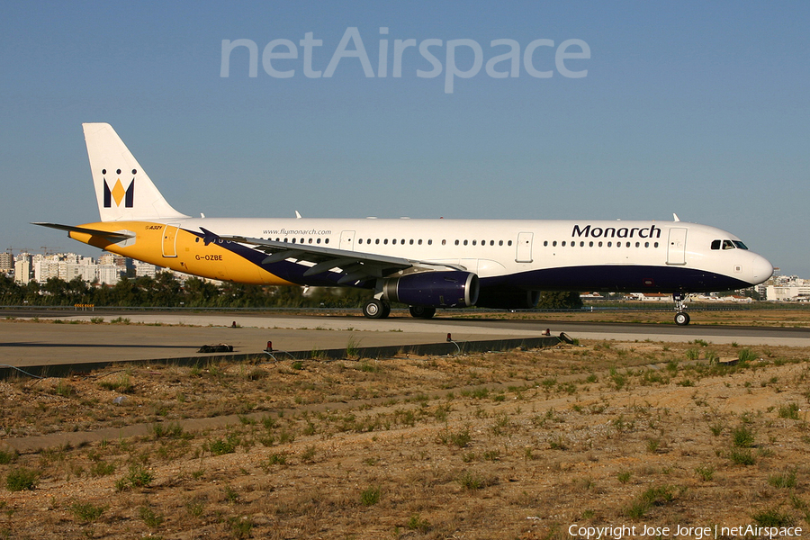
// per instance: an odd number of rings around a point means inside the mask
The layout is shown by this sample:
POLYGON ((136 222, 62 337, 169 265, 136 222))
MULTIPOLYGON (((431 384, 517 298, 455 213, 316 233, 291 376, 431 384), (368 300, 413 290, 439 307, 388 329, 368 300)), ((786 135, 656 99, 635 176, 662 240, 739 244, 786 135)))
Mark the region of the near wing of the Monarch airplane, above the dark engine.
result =
MULTIPOLYGON (((202 229, 202 227, 200 229, 202 229)), ((202 229, 202 233, 204 234, 202 239, 206 244, 218 239, 228 240, 237 242, 238 244, 247 244, 254 249, 266 253, 267 257, 262 261, 264 265, 293 259, 296 263, 310 266, 303 274, 305 277, 325 274, 334 268, 338 268, 339 274, 341 274, 340 279, 338 279, 338 284, 341 285, 355 284, 358 281, 364 281, 369 278, 386 277, 404 270, 410 270, 411 272, 464 270, 464 268, 459 266, 448 266, 446 264, 430 263, 428 261, 402 257, 389 257, 373 253, 338 249, 335 247, 291 244, 263 238, 220 236, 207 229, 202 229)))

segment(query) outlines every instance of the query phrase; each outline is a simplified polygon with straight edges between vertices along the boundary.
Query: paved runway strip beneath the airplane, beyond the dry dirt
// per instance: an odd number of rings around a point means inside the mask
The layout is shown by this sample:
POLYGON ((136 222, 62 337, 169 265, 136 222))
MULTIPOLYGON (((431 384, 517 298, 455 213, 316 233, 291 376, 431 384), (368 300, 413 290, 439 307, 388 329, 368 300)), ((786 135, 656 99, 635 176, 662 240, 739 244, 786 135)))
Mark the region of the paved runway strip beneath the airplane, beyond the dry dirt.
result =
POLYGON ((0 320, 0 364, 58 365, 166 360, 196 355, 202 345, 226 343, 235 354, 260 354, 272 341, 281 351, 347 347, 392 347, 483 339, 539 338, 545 329, 579 339, 689 342, 702 339, 741 346, 810 347, 810 329, 688 327, 653 324, 558 322, 553 320, 415 320, 402 314, 387 320, 349 316, 220 314, 133 311, 105 314, 38 314, 39 322, 16 313, 0 320), (51 316, 52 315, 52 316, 51 316), (111 324, 121 317, 124 321, 111 324), (59 322, 54 322, 58 320, 59 322), (127 323, 128 322, 128 323, 127 323), (233 328, 236 323, 236 328, 233 328))

